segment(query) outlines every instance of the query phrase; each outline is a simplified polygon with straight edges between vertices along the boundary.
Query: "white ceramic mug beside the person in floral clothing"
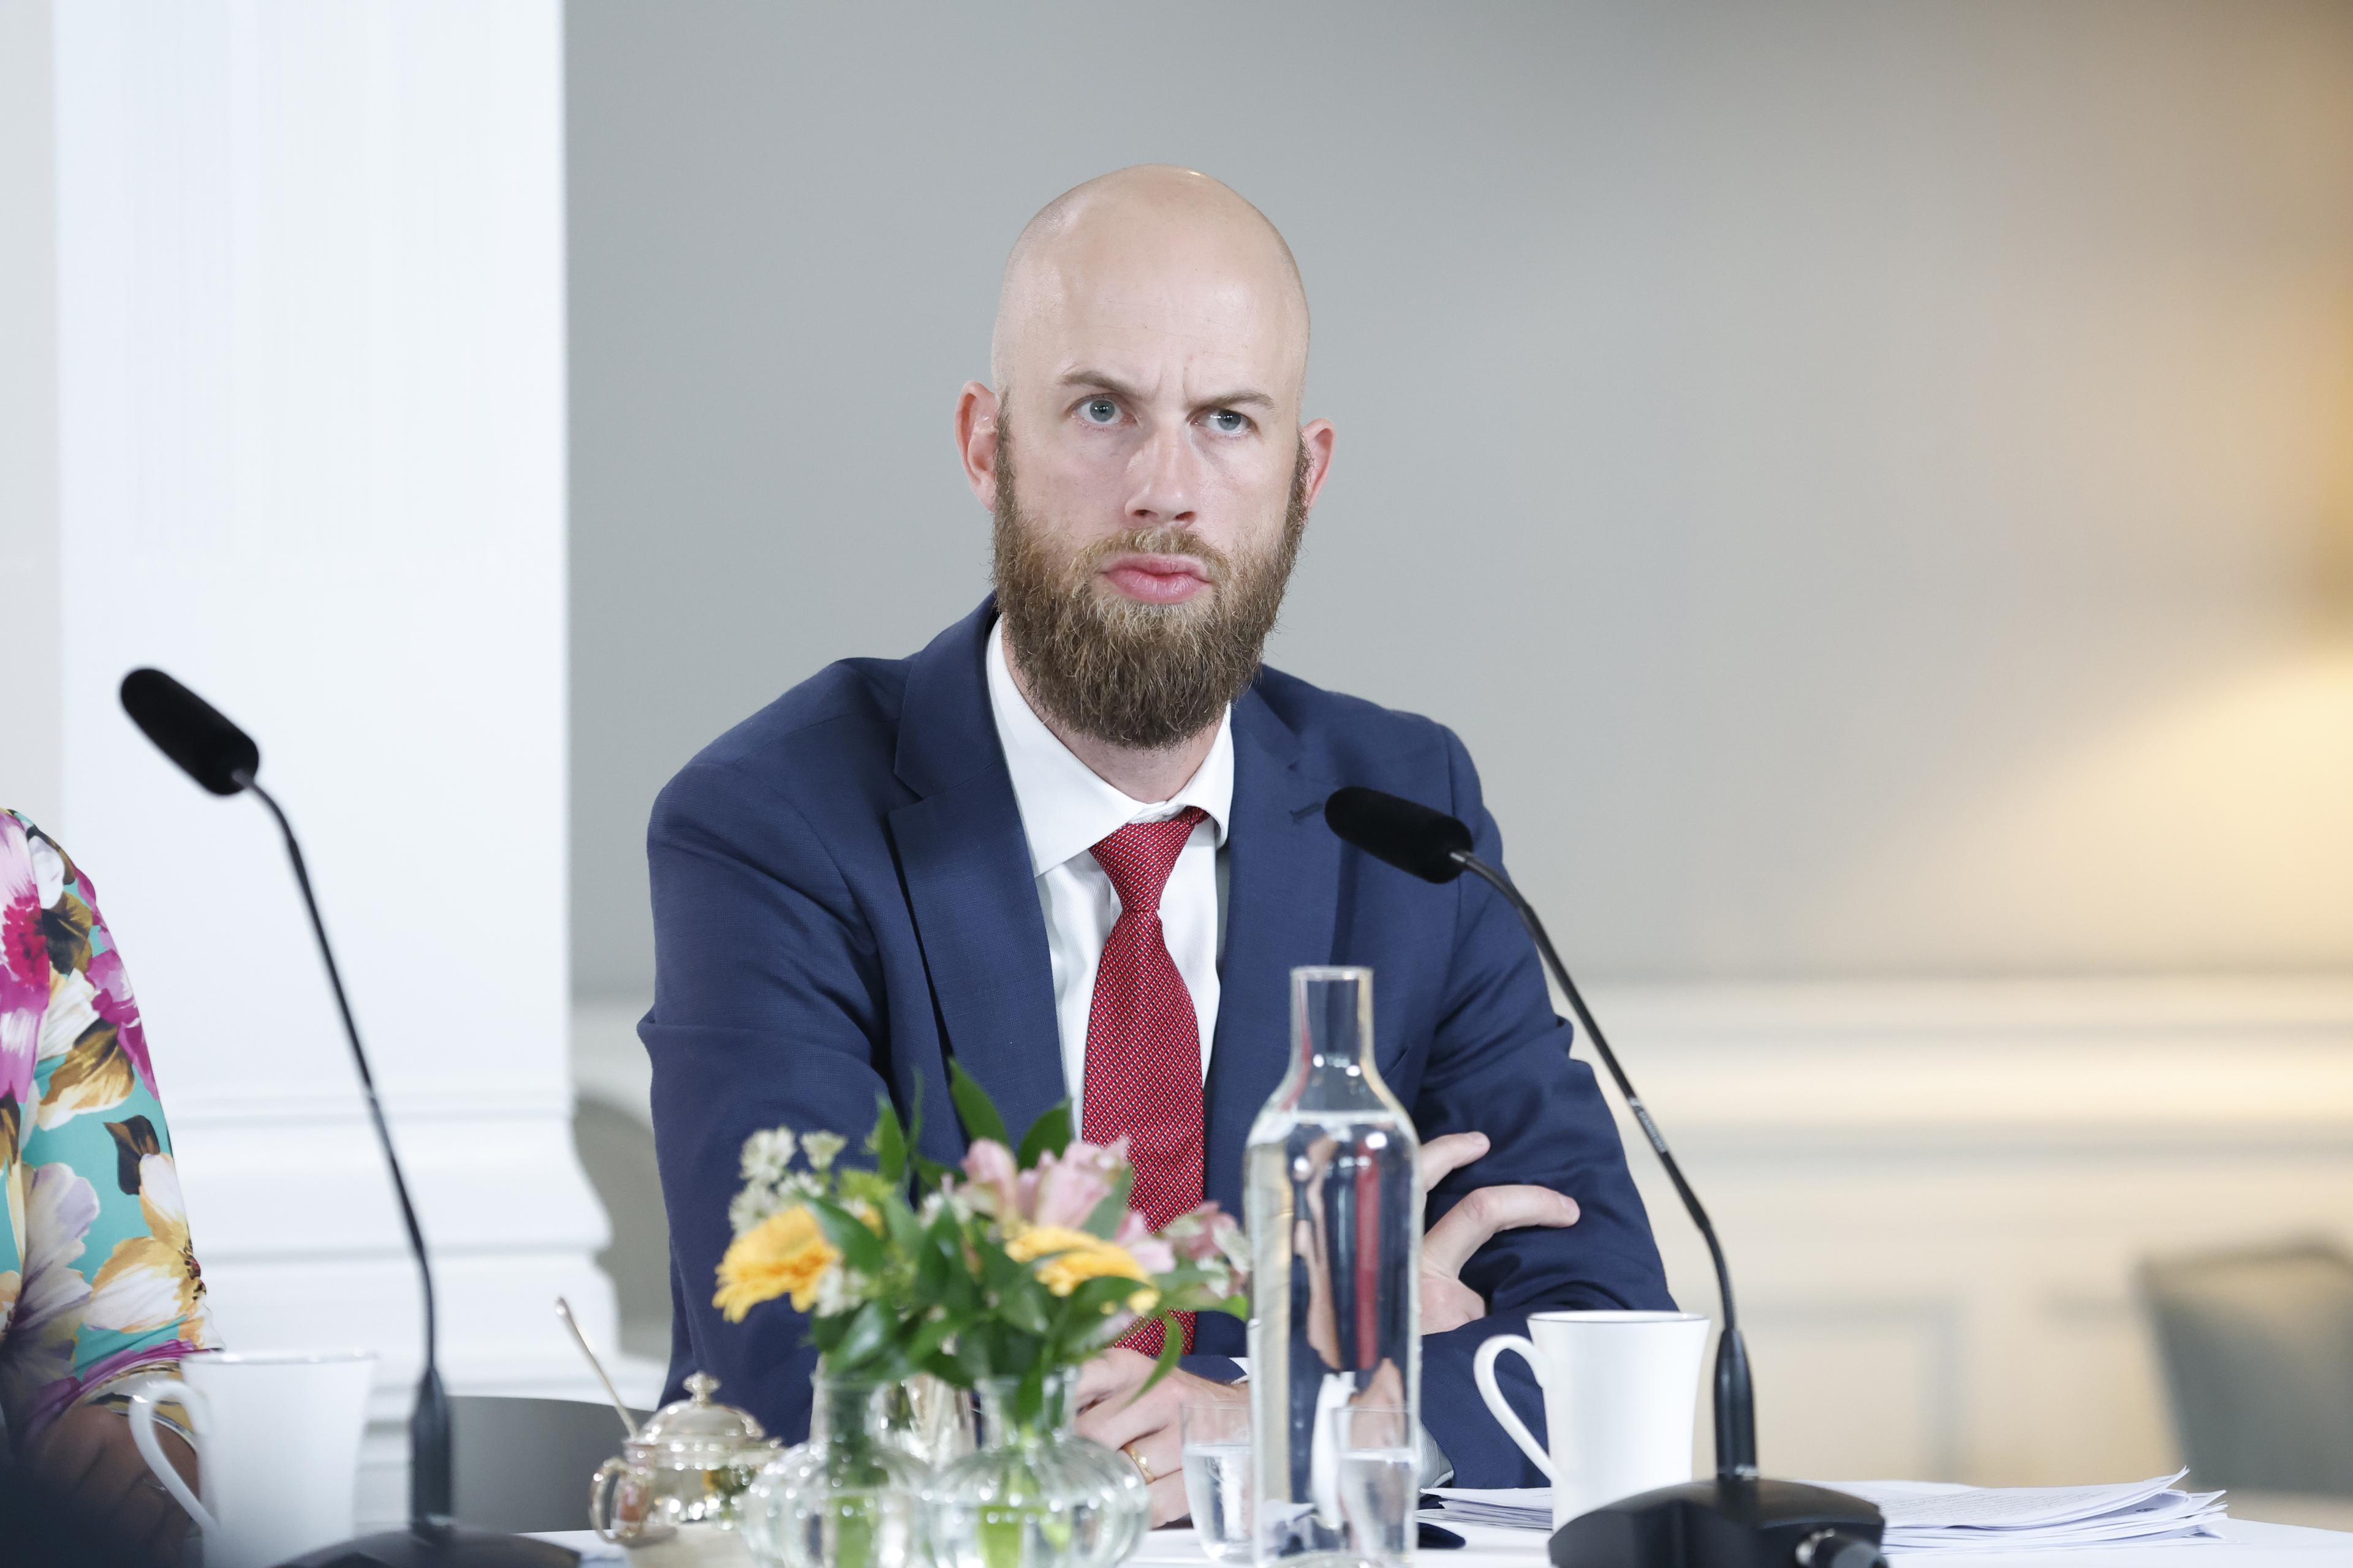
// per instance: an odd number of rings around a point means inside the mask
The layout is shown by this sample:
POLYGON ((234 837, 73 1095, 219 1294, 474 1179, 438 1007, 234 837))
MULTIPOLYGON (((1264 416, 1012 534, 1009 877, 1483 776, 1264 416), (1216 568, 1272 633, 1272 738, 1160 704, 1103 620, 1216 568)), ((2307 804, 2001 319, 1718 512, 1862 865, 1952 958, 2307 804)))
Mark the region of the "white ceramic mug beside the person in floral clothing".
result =
POLYGON ((205 1568, 271 1568, 353 1535, 369 1352, 209 1352, 132 1389, 132 1441, 205 1533, 205 1568), (195 1429, 188 1490, 155 1441, 155 1406, 179 1401, 195 1429))

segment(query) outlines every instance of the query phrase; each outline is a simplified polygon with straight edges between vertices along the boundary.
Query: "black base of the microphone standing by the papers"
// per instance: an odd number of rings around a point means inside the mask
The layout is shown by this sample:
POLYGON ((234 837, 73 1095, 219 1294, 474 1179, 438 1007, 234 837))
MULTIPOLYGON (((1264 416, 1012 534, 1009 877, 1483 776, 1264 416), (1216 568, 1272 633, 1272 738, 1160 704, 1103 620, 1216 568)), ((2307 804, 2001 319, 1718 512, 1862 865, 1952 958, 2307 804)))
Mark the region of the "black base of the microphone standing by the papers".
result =
POLYGON ((1558 1568, 1795 1568, 1798 1547, 1828 1530, 1807 1556, 1831 1568, 1868 1563, 1882 1528, 1873 1505, 1826 1486, 1718 1476, 1579 1514, 1553 1530, 1551 1559, 1558 1568))

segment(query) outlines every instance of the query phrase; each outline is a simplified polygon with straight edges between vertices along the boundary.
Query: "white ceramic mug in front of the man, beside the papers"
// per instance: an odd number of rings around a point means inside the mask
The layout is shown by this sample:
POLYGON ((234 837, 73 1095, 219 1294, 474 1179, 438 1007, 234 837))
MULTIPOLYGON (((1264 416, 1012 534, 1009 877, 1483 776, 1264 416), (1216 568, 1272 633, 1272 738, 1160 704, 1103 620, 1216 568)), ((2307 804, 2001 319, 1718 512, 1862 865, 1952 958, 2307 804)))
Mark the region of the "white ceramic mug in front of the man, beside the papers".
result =
POLYGON ((1553 1479, 1553 1528, 1605 1502, 1692 1479, 1692 1422, 1708 1319, 1692 1312, 1532 1312, 1471 1363, 1511 1441, 1553 1479), (1494 1385, 1518 1352, 1544 1385, 1546 1453, 1494 1385))

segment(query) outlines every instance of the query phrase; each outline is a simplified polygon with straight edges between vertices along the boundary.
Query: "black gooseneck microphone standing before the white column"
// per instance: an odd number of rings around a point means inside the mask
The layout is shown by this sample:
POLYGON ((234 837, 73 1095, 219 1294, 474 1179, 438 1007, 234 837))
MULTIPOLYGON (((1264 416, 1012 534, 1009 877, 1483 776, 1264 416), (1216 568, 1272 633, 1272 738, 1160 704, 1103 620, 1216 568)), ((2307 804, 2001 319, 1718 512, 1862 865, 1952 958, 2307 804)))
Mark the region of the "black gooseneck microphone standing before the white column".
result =
POLYGON ((336 969, 334 947, 327 943, 327 922, 320 919, 318 898, 311 893, 311 870, 304 865, 301 844, 294 839, 294 823, 287 820, 287 813, 271 792, 254 780, 254 773, 261 771, 261 748, 228 722, 219 708, 162 670, 132 670, 122 677, 122 712, 188 778, 214 795, 249 792, 278 818, 278 832, 287 844, 287 860, 294 863, 294 884, 301 889, 304 907, 311 912, 318 957, 327 964, 327 987, 334 992, 334 1006, 344 1016, 344 1039, 351 1041, 351 1060, 360 1070, 360 1093, 367 1098, 367 1114, 376 1124, 376 1145, 384 1150, 384 1164, 393 1173, 393 1197, 400 1201, 400 1222, 409 1232, 416 1276, 424 1281, 426 1371, 416 1380, 416 1410, 409 1415, 409 1528, 320 1547, 285 1568, 569 1568, 579 1563, 579 1554, 565 1547, 501 1535, 496 1530, 475 1530, 449 1516, 449 1396, 442 1392, 435 1363, 440 1326, 433 1312, 433 1262, 426 1258, 426 1237, 416 1225, 409 1182, 400 1173, 400 1157, 393 1152, 393 1131, 386 1126, 384 1105, 376 1100, 376 1077, 367 1067, 367 1051, 360 1048, 360 1025, 353 1020, 351 999, 344 994, 344 973, 336 969))

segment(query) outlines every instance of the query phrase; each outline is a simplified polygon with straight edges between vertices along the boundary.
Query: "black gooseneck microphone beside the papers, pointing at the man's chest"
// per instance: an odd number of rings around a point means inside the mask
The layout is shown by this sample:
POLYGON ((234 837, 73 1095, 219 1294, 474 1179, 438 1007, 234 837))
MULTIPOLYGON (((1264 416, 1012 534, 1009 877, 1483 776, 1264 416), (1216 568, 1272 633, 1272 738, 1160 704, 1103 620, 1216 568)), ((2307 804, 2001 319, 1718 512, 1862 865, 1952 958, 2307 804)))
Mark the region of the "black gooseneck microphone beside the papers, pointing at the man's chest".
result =
POLYGON ((1666 1135, 1619 1067, 1617 1051, 1609 1048, 1593 1011, 1586 1009, 1569 966, 1553 950, 1537 910, 1511 877, 1471 853, 1471 827, 1445 811, 1351 785, 1334 790, 1325 802, 1325 823, 1344 844, 1400 872, 1424 882, 1454 882, 1471 872, 1504 896, 1537 940, 1537 952, 1560 983, 1560 994, 1569 999, 1569 1011, 1577 1013, 1586 1039, 1626 1098, 1626 1110, 1640 1124, 1715 1262, 1715 1293, 1725 1305, 1725 1333, 1715 1342, 1715 1481, 1664 1486, 1572 1519, 1553 1533, 1553 1563, 1560 1568, 1885 1568, 1878 1549, 1885 1521, 1873 1505, 1826 1486, 1758 1479, 1755 1394, 1748 1380, 1748 1347, 1732 1307, 1725 1248, 1673 1150, 1666 1147, 1666 1135))

